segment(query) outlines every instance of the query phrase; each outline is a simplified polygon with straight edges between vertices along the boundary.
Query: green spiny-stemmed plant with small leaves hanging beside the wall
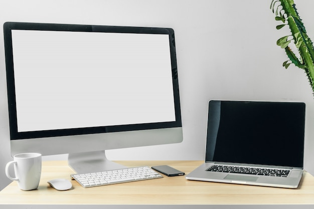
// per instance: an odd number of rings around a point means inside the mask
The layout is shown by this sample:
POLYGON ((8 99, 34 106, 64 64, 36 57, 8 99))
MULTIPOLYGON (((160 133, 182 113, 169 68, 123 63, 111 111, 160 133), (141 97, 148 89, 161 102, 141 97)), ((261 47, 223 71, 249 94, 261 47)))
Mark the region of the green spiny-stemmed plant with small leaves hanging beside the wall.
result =
POLYGON ((276 21, 283 24, 276 27, 277 30, 289 26, 291 35, 284 36, 277 41, 277 45, 285 50, 289 60, 283 63, 283 67, 288 68, 291 63, 305 71, 309 83, 314 92, 314 49, 313 43, 306 34, 305 27, 296 11, 293 0, 272 0, 270 9, 276 15, 276 21), (298 56, 292 52, 290 43, 293 40, 298 56))

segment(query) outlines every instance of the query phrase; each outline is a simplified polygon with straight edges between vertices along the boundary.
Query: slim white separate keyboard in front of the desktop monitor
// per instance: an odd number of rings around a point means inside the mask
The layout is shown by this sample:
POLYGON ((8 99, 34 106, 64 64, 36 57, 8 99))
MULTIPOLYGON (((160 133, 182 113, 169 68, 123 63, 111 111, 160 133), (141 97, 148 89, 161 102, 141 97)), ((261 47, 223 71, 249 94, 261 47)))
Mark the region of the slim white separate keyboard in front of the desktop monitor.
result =
POLYGON ((96 173, 72 174, 83 187, 103 186, 115 183, 162 178, 163 176, 147 166, 108 170, 96 173))

